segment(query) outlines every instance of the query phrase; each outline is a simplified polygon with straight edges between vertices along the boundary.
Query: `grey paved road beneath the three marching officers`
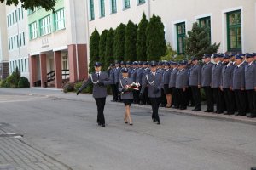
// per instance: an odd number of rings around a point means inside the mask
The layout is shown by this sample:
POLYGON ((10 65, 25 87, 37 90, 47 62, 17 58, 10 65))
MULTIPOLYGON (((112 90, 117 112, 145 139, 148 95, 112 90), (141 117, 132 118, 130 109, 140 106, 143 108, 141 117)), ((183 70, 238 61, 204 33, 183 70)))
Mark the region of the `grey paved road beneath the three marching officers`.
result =
POLYGON ((102 128, 96 126, 92 99, 0 94, 0 122, 74 170, 256 167, 256 126, 164 111, 159 126, 151 122, 150 111, 132 108, 131 127, 123 122, 123 111, 122 106, 107 105, 107 127, 102 128))

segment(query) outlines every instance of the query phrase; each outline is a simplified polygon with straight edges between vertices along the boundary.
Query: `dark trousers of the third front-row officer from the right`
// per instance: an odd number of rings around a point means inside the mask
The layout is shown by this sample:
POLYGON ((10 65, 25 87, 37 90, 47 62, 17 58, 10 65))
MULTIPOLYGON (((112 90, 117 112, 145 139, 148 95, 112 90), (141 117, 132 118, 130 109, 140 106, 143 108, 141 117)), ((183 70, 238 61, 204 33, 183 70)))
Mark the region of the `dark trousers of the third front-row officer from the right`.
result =
POLYGON ((234 92, 230 90, 230 88, 224 88, 223 94, 228 114, 234 114, 236 111, 236 99, 234 92))

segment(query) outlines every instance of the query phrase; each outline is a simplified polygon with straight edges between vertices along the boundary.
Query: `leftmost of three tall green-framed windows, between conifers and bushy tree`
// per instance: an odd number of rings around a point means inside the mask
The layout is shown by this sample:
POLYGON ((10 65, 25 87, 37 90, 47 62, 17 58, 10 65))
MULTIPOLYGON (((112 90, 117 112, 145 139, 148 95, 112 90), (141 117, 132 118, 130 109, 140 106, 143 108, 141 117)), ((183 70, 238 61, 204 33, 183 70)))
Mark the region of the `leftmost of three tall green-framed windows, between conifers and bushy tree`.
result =
POLYGON ((177 54, 184 54, 185 37, 186 37, 185 22, 177 24, 177 54))

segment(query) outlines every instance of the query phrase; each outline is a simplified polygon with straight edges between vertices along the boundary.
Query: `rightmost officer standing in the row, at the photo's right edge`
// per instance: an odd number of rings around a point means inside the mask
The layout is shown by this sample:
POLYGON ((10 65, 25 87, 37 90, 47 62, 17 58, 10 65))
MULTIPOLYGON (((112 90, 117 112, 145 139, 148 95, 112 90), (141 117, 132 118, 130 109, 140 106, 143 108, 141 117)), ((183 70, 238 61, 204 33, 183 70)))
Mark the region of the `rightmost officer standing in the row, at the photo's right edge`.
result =
POLYGON ((247 117, 256 117, 256 101, 253 93, 256 91, 256 65, 253 64, 253 54, 246 54, 247 65, 245 65, 245 88, 249 114, 247 117))

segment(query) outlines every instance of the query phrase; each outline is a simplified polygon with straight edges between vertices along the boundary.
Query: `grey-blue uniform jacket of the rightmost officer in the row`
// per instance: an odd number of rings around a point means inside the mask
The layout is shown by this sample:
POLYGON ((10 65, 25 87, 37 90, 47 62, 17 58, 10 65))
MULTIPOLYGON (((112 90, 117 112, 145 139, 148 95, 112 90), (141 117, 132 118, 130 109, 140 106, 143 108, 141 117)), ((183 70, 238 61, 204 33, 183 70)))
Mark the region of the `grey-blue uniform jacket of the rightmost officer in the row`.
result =
POLYGON ((245 66, 245 88, 247 90, 253 90, 256 87, 256 65, 245 66))

